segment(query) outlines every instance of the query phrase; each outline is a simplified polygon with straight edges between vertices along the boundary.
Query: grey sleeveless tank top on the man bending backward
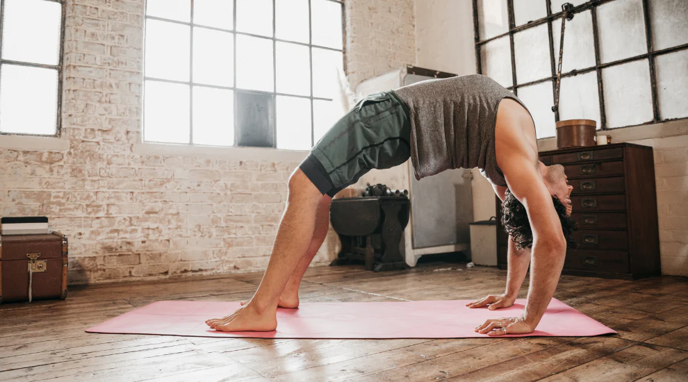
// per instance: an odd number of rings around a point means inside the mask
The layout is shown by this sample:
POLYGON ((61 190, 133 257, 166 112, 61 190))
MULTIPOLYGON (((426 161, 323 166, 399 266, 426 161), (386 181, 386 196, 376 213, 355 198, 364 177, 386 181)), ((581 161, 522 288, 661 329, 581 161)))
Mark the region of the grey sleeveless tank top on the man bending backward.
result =
POLYGON ((409 107, 416 179, 478 167, 492 184, 507 186, 495 156, 495 122, 504 98, 525 108, 513 93, 480 74, 422 81, 394 92, 409 107))

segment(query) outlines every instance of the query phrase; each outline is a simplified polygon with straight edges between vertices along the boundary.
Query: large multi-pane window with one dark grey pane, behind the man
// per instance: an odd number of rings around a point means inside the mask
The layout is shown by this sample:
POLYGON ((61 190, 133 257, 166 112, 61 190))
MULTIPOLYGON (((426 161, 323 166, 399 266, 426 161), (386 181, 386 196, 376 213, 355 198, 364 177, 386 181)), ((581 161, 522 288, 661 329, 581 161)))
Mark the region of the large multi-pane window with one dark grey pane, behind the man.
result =
POLYGON ((343 3, 148 0, 144 140, 310 149, 341 116, 343 3))

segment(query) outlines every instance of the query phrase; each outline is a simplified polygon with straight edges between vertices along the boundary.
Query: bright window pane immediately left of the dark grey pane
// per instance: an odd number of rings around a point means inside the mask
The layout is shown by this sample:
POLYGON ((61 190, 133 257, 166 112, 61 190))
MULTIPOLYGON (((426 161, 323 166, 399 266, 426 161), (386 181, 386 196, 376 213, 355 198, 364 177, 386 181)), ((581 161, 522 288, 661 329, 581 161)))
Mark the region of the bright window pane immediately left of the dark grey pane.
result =
POLYGON ((211 146, 234 144, 234 92, 193 88, 193 142, 211 146))

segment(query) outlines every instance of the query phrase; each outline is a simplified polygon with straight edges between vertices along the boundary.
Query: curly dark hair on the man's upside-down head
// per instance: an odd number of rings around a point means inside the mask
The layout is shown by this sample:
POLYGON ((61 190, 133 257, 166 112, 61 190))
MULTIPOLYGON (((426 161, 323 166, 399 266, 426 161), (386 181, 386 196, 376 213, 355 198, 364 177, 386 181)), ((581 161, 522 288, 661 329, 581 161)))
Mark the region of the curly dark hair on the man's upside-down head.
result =
MULTIPOLYGON (((566 206, 559 198, 552 195, 552 202, 554 202, 555 210, 557 210, 557 215, 559 215, 559 221, 562 222, 562 231, 564 231, 564 238, 566 238, 568 248, 578 247, 578 244, 573 240, 573 231, 578 230, 578 223, 572 217, 566 215, 566 206)), ((518 249, 532 249, 533 232, 530 229, 530 221, 528 220, 525 206, 509 190, 505 193, 504 201, 502 202, 502 226, 516 242, 518 249)))

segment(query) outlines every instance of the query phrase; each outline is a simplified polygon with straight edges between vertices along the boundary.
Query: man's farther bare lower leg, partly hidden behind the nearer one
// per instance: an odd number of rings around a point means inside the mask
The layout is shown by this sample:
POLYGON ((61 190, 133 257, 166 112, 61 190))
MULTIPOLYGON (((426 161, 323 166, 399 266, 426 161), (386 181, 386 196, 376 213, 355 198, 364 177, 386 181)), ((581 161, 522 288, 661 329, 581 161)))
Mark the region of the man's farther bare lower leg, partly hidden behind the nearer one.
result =
MULTIPOLYGON (((298 308, 299 307, 299 285, 301 285, 301 279, 303 279, 306 269, 311 265, 313 257, 318 253, 318 249, 322 246, 322 242, 325 241, 325 236, 327 236, 327 230, 329 229, 329 204, 332 201, 332 197, 329 195, 323 195, 320 199, 320 204, 318 204, 318 212, 316 213, 316 229, 313 231, 313 238, 311 238, 311 244, 306 251, 306 254, 301 258, 301 262, 294 269, 294 273, 287 281, 284 291, 282 291, 281 297, 279 297, 279 303, 277 306, 280 308, 298 308)), ((247 301, 241 301, 241 305, 246 304, 247 301)))

